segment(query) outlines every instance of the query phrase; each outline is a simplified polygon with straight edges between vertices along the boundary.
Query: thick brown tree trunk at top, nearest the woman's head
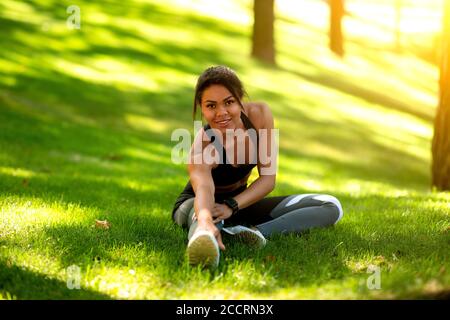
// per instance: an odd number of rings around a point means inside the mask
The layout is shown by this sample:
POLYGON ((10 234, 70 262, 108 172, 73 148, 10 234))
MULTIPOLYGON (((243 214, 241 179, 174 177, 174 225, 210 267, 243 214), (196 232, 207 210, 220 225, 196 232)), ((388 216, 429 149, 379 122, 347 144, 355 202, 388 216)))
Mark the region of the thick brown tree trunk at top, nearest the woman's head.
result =
POLYGON ((254 0, 252 57, 275 64, 274 0, 254 0))

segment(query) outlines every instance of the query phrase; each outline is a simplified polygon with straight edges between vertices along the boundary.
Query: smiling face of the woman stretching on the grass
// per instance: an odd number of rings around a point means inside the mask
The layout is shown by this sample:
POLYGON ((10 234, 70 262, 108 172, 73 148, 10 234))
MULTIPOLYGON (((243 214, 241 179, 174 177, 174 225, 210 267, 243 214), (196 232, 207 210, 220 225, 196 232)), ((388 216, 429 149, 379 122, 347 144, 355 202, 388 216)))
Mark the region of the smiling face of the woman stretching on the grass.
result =
POLYGON ((203 91, 202 114, 213 129, 242 128, 241 106, 235 97, 222 85, 214 84, 203 91))

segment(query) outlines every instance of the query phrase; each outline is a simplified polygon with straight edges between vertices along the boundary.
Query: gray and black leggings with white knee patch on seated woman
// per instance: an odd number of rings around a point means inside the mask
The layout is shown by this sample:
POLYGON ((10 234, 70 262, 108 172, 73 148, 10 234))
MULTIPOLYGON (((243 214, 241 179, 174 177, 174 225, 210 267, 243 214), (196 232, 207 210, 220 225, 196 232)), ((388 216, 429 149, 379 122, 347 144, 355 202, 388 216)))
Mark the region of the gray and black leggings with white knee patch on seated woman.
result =
MULTIPOLYGON (((175 222, 189 229, 190 238, 197 227, 192 220, 194 198, 184 201, 174 213, 175 222)), ((277 233, 302 233, 336 224, 343 215, 338 199, 325 194, 299 194, 264 198, 216 226, 247 225, 256 227, 266 237, 277 233)))

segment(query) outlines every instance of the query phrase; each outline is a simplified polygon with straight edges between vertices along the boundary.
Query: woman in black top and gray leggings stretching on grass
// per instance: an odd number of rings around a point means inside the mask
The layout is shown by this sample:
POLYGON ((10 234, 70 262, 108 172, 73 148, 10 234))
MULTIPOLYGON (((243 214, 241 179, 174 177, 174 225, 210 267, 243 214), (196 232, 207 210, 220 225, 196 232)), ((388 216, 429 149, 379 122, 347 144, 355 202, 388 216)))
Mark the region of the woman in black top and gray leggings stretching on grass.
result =
POLYGON ((208 122, 191 147, 189 182, 172 218, 189 229, 189 264, 216 267, 221 233, 256 247, 275 233, 301 233, 337 223, 343 214, 330 195, 267 197, 275 187, 277 149, 273 117, 264 103, 243 103, 245 91, 233 70, 210 67, 198 78, 198 106, 208 122), (247 186, 252 169, 259 177, 247 186))

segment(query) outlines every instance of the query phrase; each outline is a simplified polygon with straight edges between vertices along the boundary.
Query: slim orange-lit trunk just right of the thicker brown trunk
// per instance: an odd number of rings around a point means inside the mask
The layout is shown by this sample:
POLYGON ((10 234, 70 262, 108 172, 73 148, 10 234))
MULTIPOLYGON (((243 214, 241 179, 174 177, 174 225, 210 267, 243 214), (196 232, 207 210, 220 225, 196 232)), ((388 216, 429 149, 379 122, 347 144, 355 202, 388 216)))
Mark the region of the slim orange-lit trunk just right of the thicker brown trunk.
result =
POLYGON ((342 35, 342 18, 344 17, 344 0, 328 0, 330 4, 330 49, 338 56, 344 56, 344 39, 342 35))

